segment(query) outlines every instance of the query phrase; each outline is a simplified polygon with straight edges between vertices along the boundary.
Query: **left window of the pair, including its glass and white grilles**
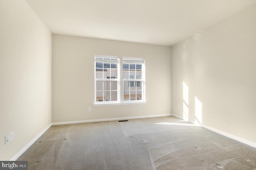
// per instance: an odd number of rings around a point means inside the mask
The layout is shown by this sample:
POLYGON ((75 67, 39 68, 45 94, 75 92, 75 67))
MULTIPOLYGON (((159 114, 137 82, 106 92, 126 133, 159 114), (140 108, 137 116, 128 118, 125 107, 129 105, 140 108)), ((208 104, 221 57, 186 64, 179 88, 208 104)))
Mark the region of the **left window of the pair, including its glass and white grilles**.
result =
POLYGON ((119 57, 95 56, 95 103, 119 102, 119 57))

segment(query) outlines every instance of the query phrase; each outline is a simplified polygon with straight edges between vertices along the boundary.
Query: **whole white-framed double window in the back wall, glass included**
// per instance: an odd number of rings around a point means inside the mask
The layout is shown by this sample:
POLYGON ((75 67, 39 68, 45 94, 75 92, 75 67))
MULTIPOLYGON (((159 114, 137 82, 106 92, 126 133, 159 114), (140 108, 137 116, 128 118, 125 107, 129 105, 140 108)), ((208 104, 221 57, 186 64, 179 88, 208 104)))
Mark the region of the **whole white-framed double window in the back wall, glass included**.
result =
POLYGON ((94 56, 94 104, 145 102, 145 59, 123 57, 122 70, 119 63, 119 57, 94 56))

